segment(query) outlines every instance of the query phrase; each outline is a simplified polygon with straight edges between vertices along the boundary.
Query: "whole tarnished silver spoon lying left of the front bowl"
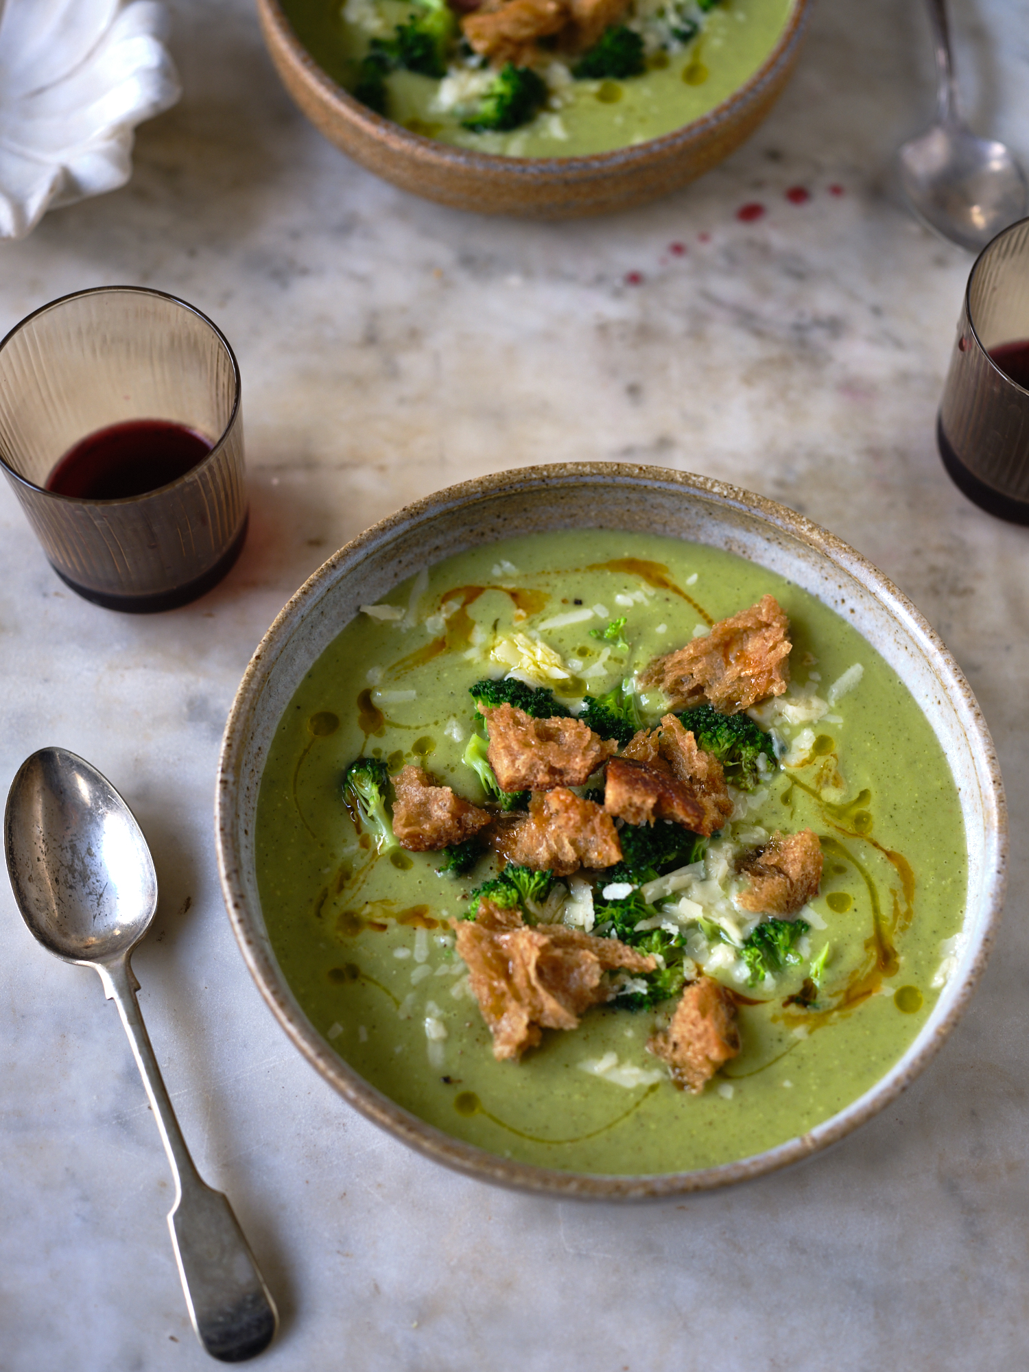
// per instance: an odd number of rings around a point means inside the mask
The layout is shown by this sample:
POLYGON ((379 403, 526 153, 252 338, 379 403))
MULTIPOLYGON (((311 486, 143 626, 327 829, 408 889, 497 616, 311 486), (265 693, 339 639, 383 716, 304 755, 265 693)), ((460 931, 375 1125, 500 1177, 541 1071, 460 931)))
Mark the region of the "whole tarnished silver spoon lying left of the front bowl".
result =
POLYGON ((167 1225, 193 1329, 222 1362, 254 1357, 274 1338, 274 1301, 228 1199, 193 1166, 136 1000, 129 958, 158 904, 147 840, 95 767, 43 748, 11 783, 4 848, 30 933, 58 958, 95 967, 122 1017, 176 1180, 167 1225))

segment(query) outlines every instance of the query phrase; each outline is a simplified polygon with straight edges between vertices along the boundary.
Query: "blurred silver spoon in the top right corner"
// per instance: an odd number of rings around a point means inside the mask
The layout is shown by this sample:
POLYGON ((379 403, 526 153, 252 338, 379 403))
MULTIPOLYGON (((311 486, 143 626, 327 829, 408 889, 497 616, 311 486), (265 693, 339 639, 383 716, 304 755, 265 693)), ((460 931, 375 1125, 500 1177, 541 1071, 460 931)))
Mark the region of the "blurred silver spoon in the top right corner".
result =
POLYGON ((1003 143, 977 139, 958 114, 944 0, 927 0, 936 48, 936 123, 897 152, 911 209, 930 229, 978 252, 1026 206, 1022 169, 1003 143))

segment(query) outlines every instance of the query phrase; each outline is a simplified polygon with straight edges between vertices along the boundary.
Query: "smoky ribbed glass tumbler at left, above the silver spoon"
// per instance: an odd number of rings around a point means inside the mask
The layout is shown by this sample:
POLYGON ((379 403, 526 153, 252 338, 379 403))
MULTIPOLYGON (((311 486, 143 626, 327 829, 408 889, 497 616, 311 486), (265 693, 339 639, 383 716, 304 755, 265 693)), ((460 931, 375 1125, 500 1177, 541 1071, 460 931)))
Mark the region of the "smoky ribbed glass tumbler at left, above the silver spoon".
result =
POLYGON ((74 591, 137 613, 185 605, 228 572, 247 534, 233 351, 206 316, 161 291, 113 285, 52 300, 0 343, 0 465, 74 591), (133 421, 185 428, 210 453, 148 488, 141 440, 130 461, 143 494, 47 490, 84 438, 133 421))

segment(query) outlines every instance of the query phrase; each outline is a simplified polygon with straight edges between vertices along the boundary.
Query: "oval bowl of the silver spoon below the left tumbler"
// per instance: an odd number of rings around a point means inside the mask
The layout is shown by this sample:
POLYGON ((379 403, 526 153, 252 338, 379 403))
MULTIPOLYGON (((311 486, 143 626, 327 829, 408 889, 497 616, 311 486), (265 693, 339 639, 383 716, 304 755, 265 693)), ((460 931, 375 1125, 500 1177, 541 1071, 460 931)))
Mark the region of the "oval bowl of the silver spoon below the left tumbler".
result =
POLYGON ((66 748, 33 753, 7 803, 11 885, 44 948, 66 962, 122 958, 158 908, 158 878, 118 792, 66 748))

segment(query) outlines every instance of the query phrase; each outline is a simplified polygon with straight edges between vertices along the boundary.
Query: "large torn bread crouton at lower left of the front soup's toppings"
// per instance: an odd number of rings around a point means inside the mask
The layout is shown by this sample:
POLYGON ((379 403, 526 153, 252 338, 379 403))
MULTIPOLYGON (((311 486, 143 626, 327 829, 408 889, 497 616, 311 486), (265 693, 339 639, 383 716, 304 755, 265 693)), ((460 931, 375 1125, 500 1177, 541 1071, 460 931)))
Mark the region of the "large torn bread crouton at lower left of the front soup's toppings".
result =
POLYGON ((653 971, 654 958, 617 938, 597 938, 564 925, 521 922, 517 908, 479 901, 475 921, 454 919, 457 952, 468 963, 468 981, 493 1033, 493 1055, 517 1061, 534 1048, 543 1029, 575 1029, 590 1006, 609 1000, 613 986, 604 973, 624 967, 653 971))

